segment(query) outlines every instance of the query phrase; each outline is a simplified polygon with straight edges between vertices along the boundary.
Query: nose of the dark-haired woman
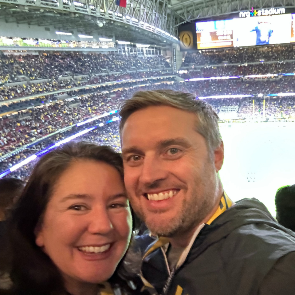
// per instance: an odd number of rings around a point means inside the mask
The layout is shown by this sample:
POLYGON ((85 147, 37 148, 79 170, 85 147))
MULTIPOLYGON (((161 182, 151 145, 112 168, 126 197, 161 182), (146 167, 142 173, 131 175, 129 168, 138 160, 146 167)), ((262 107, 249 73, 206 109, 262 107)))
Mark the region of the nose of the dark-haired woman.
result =
POLYGON ((93 207, 88 218, 88 231, 91 234, 108 234, 113 229, 108 210, 104 205, 93 207))

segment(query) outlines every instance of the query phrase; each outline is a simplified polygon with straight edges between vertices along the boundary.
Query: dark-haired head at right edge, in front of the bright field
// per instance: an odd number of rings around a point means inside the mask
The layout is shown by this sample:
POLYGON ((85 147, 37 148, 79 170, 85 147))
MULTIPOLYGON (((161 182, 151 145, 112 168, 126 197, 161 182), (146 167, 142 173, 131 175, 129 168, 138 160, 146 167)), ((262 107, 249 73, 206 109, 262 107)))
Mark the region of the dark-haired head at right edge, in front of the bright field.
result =
POLYGON ((295 184, 280 187, 275 196, 277 221, 295 231, 295 184))

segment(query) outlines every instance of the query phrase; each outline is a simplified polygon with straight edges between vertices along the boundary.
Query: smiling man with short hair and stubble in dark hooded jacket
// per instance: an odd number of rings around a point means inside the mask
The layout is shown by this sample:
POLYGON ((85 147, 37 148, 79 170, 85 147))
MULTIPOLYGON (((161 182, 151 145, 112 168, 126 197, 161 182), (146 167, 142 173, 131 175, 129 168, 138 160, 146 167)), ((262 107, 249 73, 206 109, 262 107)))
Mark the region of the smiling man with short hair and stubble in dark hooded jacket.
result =
POLYGON ((223 143, 211 106, 188 93, 142 91, 120 116, 130 202, 159 236, 141 265, 146 289, 294 294, 295 235, 258 200, 235 204, 223 191, 223 143))

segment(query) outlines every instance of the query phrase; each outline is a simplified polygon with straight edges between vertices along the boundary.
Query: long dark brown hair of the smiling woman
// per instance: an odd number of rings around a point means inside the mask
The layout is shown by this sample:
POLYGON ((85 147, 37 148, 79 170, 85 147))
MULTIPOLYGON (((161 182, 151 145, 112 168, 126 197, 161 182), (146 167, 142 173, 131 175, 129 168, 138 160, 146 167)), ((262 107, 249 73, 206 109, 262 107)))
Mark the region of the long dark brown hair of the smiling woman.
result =
POLYGON ((71 142, 50 151, 37 162, 8 225, 12 294, 65 293, 61 275, 51 259, 36 245, 34 231, 45 212, 55 183, 77 159, 107 163, 117 169, 123 180, 122 158, 108 146, 71 142))

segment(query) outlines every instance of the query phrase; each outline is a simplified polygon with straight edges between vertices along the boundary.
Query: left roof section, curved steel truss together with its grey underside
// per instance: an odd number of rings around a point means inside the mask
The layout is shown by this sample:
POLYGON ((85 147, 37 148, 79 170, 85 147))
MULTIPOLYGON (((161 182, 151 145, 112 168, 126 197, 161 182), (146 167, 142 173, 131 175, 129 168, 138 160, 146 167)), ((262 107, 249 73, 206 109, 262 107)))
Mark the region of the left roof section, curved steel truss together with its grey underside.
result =
POLYGON ((54 25, 61 31, 77 29, 82 34, 95 32, 117 40, 167 45, 177 37, 170 4, 170 0, 128 0, 124 8, 116 0, 0 0, 0 21, 54 25))

